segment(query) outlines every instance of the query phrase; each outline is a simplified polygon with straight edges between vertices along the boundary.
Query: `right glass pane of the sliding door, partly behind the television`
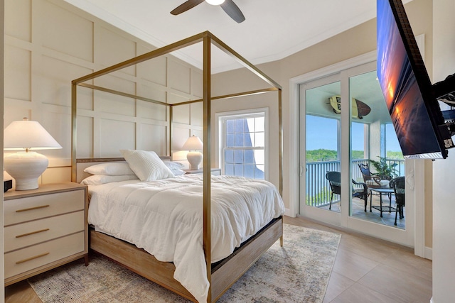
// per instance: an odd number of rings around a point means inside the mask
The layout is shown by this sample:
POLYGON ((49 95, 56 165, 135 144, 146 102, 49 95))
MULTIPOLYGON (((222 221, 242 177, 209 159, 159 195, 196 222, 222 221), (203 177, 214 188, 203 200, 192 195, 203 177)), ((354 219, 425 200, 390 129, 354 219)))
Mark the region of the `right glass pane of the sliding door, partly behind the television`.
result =
POLYGON ((389 181, 404 175, 405 161, 376 71, 350 77, 349 94, 351 177, 355 182, 365 183, 368 193, 365 204, 363 195, 355 195, 363 192, 363 185, 353 186, 350 216, 404 229, 405 217, 397 219, 395 225, 395 193, 389 181), (373 177, 363 175, 360 166, 368 166, 373 177))

